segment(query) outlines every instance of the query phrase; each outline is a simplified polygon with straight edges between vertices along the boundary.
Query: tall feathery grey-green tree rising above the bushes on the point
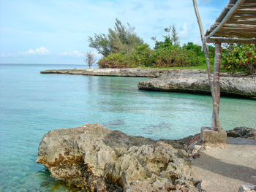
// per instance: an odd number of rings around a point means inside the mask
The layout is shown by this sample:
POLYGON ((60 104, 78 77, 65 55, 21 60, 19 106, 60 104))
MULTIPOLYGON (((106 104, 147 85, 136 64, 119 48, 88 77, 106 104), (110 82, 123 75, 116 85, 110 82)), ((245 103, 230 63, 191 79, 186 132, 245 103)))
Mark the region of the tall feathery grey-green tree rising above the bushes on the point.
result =
POLYGON ((100 54, 131 53, 135 47, 143 44, 143 40, 135 34, 135 28, 124 26, 116 19, 114 28, 108 29, 108 34, 94 34, 89 37, 89 47, 95 48, 100 54))

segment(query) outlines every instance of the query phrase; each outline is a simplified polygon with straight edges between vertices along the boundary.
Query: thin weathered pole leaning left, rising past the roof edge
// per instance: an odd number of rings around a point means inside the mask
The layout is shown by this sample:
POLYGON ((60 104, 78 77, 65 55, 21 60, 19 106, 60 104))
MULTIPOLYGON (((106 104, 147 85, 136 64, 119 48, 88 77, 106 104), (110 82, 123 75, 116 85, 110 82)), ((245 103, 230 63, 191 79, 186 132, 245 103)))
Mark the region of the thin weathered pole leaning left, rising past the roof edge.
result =
POLYGON ((219 122, 216 91, 215 91, 214 82, 213 82, 212 76, 211 76, 211 65, 210 65, 210 60, 209 60, 209 56, 208 56, 208 47, 206 45, 204 32, 203 32, 203 25, 202 25, 202 21, 200 19, 200 15, 199 15, 199 12, 198 12, 198 9, 197 9, 196 0, 193 0, 193 4, 194 4, 194 9, 195 9, 195 15, 197 16, 197 23, 198 23, 198 26, 200 28, 200 35, 201 35, 201 40, 202 40, 203 51, 204 51, 205 57, 206 57, 208 80, 209 80, 210 87, 211 87, 211 96, 212 96, 212 101, 213 101, 214 119, 215 119, 214 122, 216 123, 216 126, 214 126, 213 128, 216 131, 221 131, 222 128, 221 128, 220 122, 219 122))

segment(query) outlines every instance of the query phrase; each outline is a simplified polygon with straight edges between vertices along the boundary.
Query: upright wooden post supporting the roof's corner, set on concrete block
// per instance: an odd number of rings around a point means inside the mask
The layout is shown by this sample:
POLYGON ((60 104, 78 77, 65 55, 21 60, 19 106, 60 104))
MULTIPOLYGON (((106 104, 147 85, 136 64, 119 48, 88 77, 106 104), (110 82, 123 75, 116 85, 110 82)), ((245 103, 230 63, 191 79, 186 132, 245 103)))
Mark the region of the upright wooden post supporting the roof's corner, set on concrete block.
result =
MULTIPOLYGON (((219 69, 221 63, 221 55, 222 55, 222 44, 217 42, 215 44, 215 56, 214 56, 214 88, 215 88, 215 96, 217 99, 217 113, 219 115, 219 98, 220 98, 220 86, 219 86, 219 69)), ((217 126, 216 118, 214 115, 214 110, 212 112, 211 118, 211 127, 218 131, 221 131, 221 128, 217 126)))

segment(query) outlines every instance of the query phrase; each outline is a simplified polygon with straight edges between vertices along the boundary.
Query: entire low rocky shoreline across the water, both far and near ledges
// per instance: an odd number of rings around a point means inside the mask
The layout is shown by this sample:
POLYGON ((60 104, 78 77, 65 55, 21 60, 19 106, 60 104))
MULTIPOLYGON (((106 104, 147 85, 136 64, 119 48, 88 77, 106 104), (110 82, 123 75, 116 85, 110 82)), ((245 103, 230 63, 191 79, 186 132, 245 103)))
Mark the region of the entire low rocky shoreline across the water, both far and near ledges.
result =
MULTIPOLYGON (((203 70, 185 69, 51 69, 41 74, 80 74, 114 77, 153 77, 152 80, 138 82, 138 88, 150 91, 176 91, 211 94, 208 76, 203 70), (156 78, 157 77, 157 78, 156 78)), ((256 75, 220 74, 221 94, 256 99, 256 75)))

